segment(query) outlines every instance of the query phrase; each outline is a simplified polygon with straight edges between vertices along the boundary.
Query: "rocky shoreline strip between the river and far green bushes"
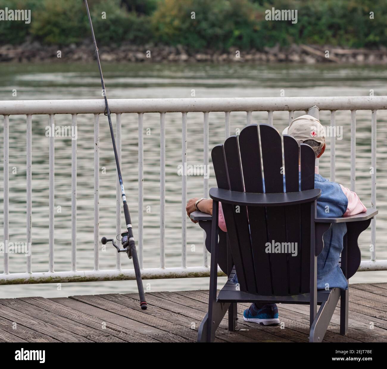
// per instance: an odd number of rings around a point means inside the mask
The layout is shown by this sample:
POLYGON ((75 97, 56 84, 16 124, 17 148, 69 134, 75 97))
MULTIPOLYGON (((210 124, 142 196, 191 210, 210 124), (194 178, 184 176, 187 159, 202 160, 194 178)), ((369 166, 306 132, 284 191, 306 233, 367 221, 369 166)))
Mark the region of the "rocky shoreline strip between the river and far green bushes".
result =
MULTIPOLYGON (((38 42, 22 45, 1 45, 0 62, 50 62, 60 59, 68 62, 88 62, 94 59, 94 48, 90 43, 64 47, 46 46, 38 42)), ((99 48, 100 58, 106 62, 292 62, 303 64, 387 64, 387 48, 379 50, 346 49, 337 47, 316 47, 292 45, 281 48, 265 47, 263 51, 239 51, 229 48, 228 52, 203 50, 192 52, 178 46, 121 45, 99 48)))

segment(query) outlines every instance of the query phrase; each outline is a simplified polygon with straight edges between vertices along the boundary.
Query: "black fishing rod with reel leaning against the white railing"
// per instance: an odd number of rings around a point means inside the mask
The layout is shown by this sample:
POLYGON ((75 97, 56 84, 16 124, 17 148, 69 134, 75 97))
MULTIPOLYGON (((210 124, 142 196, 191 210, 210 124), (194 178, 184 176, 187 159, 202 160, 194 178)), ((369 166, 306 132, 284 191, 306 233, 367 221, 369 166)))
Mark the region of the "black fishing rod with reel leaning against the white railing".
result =
POLYGON ((93 25, 91 23, 90 11, 89 11, 89 6, 87 5, 87 0, 85 0, 85 5, 86 5, 86 10, 87 10, 87 17, 89 17, 91 35, 92 35, 92 38, 93 38, 93 41, 94 41, 95 52, 97 53, 96 55, 97 55, 97 63, 98 63, 99 75, 101 76, 102 91, 103 91, 103 95, 104 95, 104 98, 105 98, 105 113, 104 114, 108 116, 111 141, 113 143, 114 156, 116 158, 116 167, 117 167, 117 173, 118 173, 118 180, 120 181, 120 187, 121 187, 122 202, 123 202, 123 212, 125 214, 125 222, 126 222, 126 226, 127 226, 127 232, 124 232, 124 233, 121 234, 121 243, 122 243, 123 248, 119 248, 114 243, 114 240, 112 238, 107 239, 106 237, 102 237, 101 242, 102 242, 103 245, 106 245, 107 242, 111 242, 111 243, 113 243, 113 246, 116 248, 117 252, 126 252, 128 254, 129 259, 133 258, 134 272, 135 272, 135 275, 136 275, 137 288, 139 290, 139 296, 140 296, 140 307, 141 307, 142 310, 146 310, 147 303, 145 301, 144 287, 142 286, 142 279, 141 279, 141 271, 140 271, 139 259, 137 257, 136 244, 134 242, 134 237, 133 237, 132 221, 130 220, 128 203, 126 202, 125 190, 123 188, 121 168, 120 168, 120 162, 118 160, 116 141, 114 139, 114 133, 113 133, 113 126, 111 124, 110 110, 109 110, 109 105, 108 105, 108 98, 106 96, 106 89, 105 89, 105 83, 103 81, 101 62, 99 61, 98 47, 97 47, 97 43, 96 43, 96 38, 94 36, 94 30, 93 30, 93 25))

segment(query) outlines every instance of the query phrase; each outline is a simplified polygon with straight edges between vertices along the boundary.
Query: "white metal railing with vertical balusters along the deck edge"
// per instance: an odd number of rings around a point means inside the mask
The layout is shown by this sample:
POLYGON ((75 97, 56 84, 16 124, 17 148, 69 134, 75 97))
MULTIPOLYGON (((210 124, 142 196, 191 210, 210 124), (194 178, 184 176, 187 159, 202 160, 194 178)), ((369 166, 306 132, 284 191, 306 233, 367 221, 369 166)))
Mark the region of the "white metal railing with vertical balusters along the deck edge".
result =
MULTIPOLYGON (((281 97, 281 98, 169 98, 169 99, 112 99, 109 107, 116 114, 116 144, 121 160, 121 114, 137 113, 139 126, 139 228, 138 249, 139 262, 144 279, 183 278, 209 276, 208 253, 204 248, 203 266, 187 267, 187 178, 182 176, 182 266, 166 267, 165 265, 165 116, 168 112, 182 113, 182 164, 187 162, 187 113, 203 112, 204 129, 204 165, 209 164, 209 113, 225 113, 225 137, 230 134, 230 112, 245 111, 246 122, 252 122, 253 111, 266 111, 267 121, 273 124, 274 111, 288 111, 289 122, 294 118, 295 111, 305 111, 313 116, 319 110, 330 110, 330 124, 336 125, 336 111, 351 111, 351 190, 355 189, 355 150, 356 150, 356 110, 371 111, 371 165, 374 168, 371 177, 371 203, 376 207, 376 127, 377 110, 387 109, 387 97, 281 97), (317 108, 318 107, 318 108, 317 108), (144 167, 144 113, 160 114, 160 267, 143 267, 143 167, 144 167)), ((26 115, 27 132, 27 243, 31 243, 32 224, 32 116, 46 114, 50 125, 54 124, 55 114, 71 114, 72 126, 77 126, 77 114, 94 114, 94 270, 77 271, 77 141, 72 140, 72 218, 71 218, 71 271, 54 271, 54 137, 49 138, 49 267, 48 272, 33 272, 31 256, 28 256, 25 273, 10 273, 8 254, 4 253, 4 272, 0 274, 0 284, 53 283, 74 281, 106 281, 135 279, 133 269, 121 269, 120 255, 117 254, 116 269, 99 270, 99 114, 105 109, 103 100, 26 100, 1 101, 0 114, 4 116, 4 241, 9 238, 9 116, 26 115)), ((331 137, 330 179, 335 179, 335 137, 331 137)), ((208 196, 209 181, 204 179, 204 196, 208 196)), ((116 195, 116 231, 121 230, 121 192, 117 181, 116 195)), ((359 271, 387 270, 387 260, 376 260, 376 219, 371 226, 371 243, 374 249, 371 259, 361 262, 359 271)), ((219 270, 219 275, 222 275, 219 270)))

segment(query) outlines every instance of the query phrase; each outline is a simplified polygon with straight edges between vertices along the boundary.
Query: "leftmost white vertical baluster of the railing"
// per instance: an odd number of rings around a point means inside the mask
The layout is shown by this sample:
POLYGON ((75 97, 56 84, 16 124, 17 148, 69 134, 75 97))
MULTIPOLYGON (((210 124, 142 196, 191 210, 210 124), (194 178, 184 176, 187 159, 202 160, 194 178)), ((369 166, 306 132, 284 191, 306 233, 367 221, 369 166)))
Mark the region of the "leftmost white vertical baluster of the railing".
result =
POLYGON ((4 214, 4 274, 9 273, 9 116, 4 116, 4 197, 3 197, 3 214, 4 214))

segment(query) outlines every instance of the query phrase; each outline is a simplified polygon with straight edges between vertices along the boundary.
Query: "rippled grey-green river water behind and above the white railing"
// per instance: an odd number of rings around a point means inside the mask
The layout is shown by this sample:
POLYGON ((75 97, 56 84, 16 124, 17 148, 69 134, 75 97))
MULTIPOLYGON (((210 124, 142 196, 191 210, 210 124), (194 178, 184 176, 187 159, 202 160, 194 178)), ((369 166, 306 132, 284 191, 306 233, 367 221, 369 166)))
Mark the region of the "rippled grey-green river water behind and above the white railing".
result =
MULTIPOLYGON (((291 96, 387 95, 387 71, 379 66, 253 65, 253 64, 106 64, 103 65, 109 98, 197 98, 279 97, 281 90, 291 96)), ((101 98, 96 64, 2 64, 0 100, 101 98), (16 90, 17 96, 13 96, 16 90)), ((304 114, 296 112, 297 115, 304 114)), ((378 112, 377 123, 377 258, 387 258, 386 145, 387 114, 378 112)), ((254 123, 266 122, 267 113, 253 112, 254 123)), ((329 125, 329 112, 320 112, 329 125)), ((115 118, 113 117, 115 122, 115 118)), ((274 113, 274 126, 282 131, 287 112, 274 113)), ((203 114, 188 114, 188 164, 203 160, 203 114)), ((71 125, 70 115, 55 116, 58 126, 71 125)), ((231 113, 231 134, 246 124, 246 113, 231 113)), ((350 185, 350 112, 336 113, 342 126, 336 141, 336 181, 350 185)), ((356 115, 356 192, 370 206, 371 114, 356 115)), ((48 116, 33 116, 33 271, 48 270, 48 116)), ((209 115, 210 148, 224 140, 224 113, 209 115)), ((159 114, 144 115, 144 267, 159 267, 159 114), (148 133, 148 134, 146 134, 148 133)), ((93 116, 78 116, 77 164, 77 269, 93 269, 93 116)), ((137 114, 122 115, 122 172, 137 239, 137 114)), ((3 155, 3 126, 0 126, 0 155, 3 155)), ((329 178, 329 140, 320 159, 320 174, 329 178)), ((25 116, 10 117, 10 241, 26 239, 26 122, 25 116)), ((181 265, 181 114, 166 114, 166 266, 181 265)), ((2 163, 0 164, 3 165, 2 163)), ((115 162, 108 122, 100 116, 100 235, 115 235, 115 162)), ((0 171, 0 201, 3 170, 0 171)), ((200 197, 203 178, 189 176, 188 198, 200 197)), ((210 187, 214 186, 210 172, 210 187)), ((71 139, 55 138, 55 271, 71 269, 71 139)), ((3 212, 0 211, 0 222, 3 212)), ((122 222, 124 224, 124 222, 122 222)), ((3 241, 3 228, 0 229, 3 241)), ((370 257, 370 228, 359 239, 363 259, 370 257)), ((188 222, 187 264, 202 265, 202 230, 188 222)), ((100 250, 100 269, 114 269, 115 250, 100 250)), ((0 256, 0 272, 3 262, 0 256)), ((10 272, 24 272, 26 257, 10 255, 10 272)), ((122 255, 122 267, 132 263, 122 255)), ((225 278, 219 278, 223 283, 225 278)), ((358 272, 351 283, 386 282, 387 272, 358 272)), ((208 288, 208 278, 144 281, 147 290, 188 290, 208 288)), ((0 286, 0 297, 61 297, 80 294, 135 292, 135 281, 63 283, 0 286)))

